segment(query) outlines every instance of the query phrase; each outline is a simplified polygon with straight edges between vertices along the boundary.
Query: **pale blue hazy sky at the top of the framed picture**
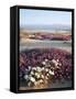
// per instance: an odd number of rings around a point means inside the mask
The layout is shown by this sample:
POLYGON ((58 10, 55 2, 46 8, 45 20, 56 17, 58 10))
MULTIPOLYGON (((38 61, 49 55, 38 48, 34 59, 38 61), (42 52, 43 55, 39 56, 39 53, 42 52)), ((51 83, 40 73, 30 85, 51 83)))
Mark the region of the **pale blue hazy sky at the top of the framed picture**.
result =
POLYGON ((20 9, 20 26, 52 24, 72 25, 72 12, 20 9))

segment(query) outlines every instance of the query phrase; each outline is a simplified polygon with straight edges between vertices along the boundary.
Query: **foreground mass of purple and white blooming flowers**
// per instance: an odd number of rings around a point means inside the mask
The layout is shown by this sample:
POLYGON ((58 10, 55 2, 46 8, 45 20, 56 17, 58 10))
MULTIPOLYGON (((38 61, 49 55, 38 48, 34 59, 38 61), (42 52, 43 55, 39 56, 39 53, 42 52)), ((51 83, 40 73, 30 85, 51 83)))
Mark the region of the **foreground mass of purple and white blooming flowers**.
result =
POLYGON ((26 87, 48 86, 72 79, 72 54, 59 48, 33 48, 20 53, 20 81, 26 87))

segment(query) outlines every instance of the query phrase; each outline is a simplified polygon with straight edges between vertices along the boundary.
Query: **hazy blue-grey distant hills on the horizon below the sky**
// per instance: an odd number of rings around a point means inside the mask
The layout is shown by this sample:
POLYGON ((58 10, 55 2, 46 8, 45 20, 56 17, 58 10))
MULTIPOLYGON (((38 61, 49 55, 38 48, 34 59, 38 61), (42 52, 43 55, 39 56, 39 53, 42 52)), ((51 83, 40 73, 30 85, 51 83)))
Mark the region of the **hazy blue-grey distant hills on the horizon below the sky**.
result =
POLYGON ((54 25, 25 25, 21 26, 21 30, 50 30, 50 31, 70 31, 70 25, 62 25, 62 24, 54 24, 54 25))

